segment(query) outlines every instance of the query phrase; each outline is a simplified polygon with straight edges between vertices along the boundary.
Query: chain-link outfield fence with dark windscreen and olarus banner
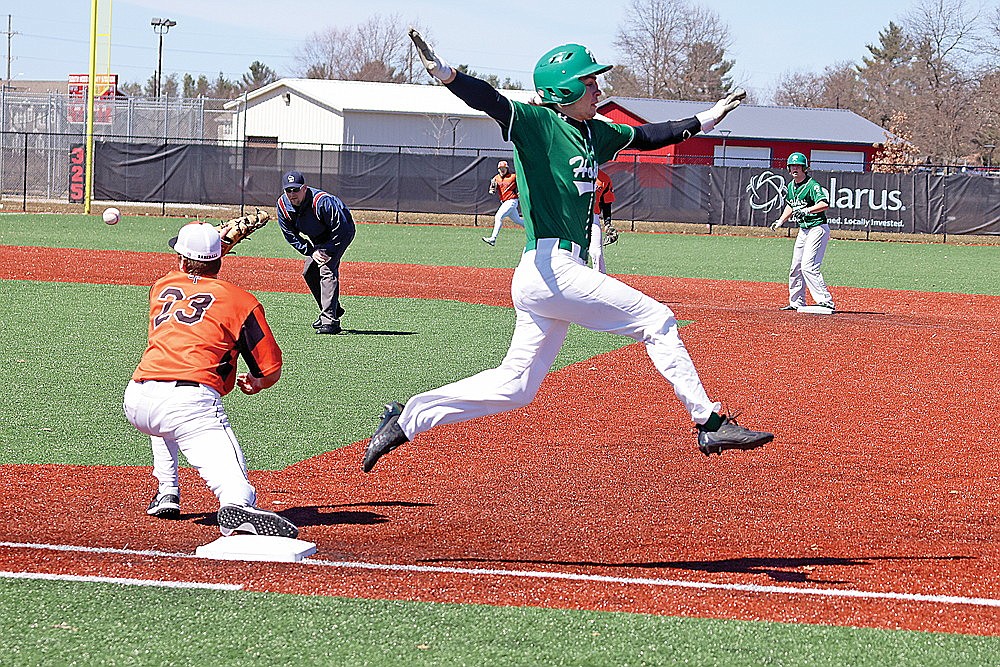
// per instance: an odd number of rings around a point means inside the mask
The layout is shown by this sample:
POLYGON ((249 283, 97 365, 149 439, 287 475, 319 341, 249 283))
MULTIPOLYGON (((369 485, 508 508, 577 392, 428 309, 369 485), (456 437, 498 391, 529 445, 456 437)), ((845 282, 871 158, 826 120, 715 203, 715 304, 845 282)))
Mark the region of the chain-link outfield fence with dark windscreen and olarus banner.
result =
MULTIPOLYGON (((0 195, 7 202, 81 201, 83 123, 60 95, 4 93, 0 195), (74 186, 75 184, 75 186, 74 186)), ((219 101, 215 101, 219 102, 219 101)), ((273 206, 279 178, 302 171, 355 210, 492 215, 495 149, 277 144, 221 139, 231 115, 206 100, 117 100, 95 110, 94 199, 159 204, 273 206)), ((851 231, 1000 235, 994 170, 921 166, 907 173, 814 172, 828 188, 831 227, 851 231)), ((783 163, 718 166, 704 156, 636 155, 605 165, 616 218, 766 226, 781 212, 783 163)), ((12 208, 8 204, 8 209, 12 208)), ((627 225, 624 228, 628 228, 627 225)), ((633 228, 635 225, 633 224, 633 228)))

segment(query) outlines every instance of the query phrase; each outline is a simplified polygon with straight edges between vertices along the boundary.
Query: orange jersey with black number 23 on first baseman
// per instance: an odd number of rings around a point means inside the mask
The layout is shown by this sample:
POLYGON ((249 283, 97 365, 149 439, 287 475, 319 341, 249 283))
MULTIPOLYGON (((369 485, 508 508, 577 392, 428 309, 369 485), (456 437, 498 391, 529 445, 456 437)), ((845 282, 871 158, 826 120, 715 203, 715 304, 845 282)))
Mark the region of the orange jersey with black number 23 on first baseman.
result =
POLYGON ((237 356, 251 375, 281 368, 281 348, 257 297, 218 278, 171 271, 149 291, 149 344, 135 381, 186 380, 225 396, 237 356))

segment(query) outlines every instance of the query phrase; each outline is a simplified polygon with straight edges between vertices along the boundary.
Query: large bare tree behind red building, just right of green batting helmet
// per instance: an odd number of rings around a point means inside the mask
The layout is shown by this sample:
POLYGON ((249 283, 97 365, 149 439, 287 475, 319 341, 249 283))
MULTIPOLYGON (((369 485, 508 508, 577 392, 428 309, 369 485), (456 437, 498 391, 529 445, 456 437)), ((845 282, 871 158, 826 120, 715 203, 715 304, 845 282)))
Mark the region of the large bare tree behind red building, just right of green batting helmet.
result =
POLYGON ((729 27, 687 0, 632 0, 615 39, 614 95, 712 101, 732 86, 729 27), (617 70, 617 71, 616 71, 617 70))

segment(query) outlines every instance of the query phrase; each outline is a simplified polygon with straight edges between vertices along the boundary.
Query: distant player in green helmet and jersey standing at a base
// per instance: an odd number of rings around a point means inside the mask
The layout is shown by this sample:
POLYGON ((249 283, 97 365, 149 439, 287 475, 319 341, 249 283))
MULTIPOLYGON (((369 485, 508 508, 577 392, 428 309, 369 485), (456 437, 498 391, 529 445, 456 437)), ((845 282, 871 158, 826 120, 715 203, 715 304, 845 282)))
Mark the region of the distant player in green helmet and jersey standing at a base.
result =
POLYGON ((806 305, 806 289, 816 305, 834 311, 833 297, 820 273, 826 246, 830 241, 830 225, 826 209, 830 196, 816 179, 809 176, 809 160, 802 153, 792 153, 785 162, 792 182, 785 192, 785 210, 771 225, 778 229, 786 220, 798 224, 792 250, 792 266, 788 271, 788 304, 782 310, 798 310, 806 305))

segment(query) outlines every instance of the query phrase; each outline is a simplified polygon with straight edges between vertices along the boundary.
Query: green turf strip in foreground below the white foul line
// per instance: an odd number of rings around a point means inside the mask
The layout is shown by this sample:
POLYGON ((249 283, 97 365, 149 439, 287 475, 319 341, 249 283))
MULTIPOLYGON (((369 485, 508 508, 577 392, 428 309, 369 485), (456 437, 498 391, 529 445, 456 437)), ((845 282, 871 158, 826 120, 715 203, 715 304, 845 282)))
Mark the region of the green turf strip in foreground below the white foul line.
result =
POLYGON ((3 581, 27 665, 994 665, 987 637, 646 614, 3 581), (113 641, 109 638, 113 637, 113 641))

